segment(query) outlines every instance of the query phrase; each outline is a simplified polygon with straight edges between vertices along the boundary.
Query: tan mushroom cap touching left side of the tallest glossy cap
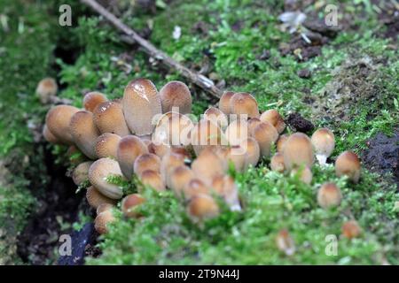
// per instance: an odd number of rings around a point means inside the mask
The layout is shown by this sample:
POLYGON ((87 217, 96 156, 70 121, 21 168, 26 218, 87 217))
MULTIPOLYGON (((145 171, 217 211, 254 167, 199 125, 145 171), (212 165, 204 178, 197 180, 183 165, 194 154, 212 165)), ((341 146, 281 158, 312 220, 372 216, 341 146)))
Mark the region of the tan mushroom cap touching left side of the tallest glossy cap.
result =
POLYGON ((94 123, 102 133, 118 134, 121 137, 130 134, 121 103, 106 101, 99 103, 94 112, 94 123))

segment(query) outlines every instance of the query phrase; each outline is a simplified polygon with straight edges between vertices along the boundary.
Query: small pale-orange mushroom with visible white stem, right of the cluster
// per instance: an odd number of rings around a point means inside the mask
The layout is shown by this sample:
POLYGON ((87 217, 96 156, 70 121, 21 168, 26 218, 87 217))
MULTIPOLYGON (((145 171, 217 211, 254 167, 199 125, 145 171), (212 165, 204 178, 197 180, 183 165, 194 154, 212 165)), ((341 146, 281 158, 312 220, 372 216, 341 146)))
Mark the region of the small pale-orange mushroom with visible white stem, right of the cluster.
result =
POLYGON ((325 127, 312 134, 311 142, 315 149, 316 158, 320 165, 325 165, 327 158, 331 156, 335 147, 334 134, 325 127))

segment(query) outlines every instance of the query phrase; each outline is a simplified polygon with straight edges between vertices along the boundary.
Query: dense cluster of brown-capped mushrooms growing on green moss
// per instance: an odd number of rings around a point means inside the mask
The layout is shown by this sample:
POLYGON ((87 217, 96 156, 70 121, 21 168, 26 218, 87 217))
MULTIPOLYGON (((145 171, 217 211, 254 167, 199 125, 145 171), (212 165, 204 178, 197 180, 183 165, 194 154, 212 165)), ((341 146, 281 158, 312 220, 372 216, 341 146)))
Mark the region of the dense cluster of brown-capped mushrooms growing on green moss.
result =
MULTIPOLYGON (((225 92, 218 108, 210 107, 199 120, 192 117, 192 95, 180 81, 170 81, 158 92, 151 80, 129 81, 123 97, 109 100, 99 92, 83 98, 84 109, 57 105, 47 113, 43 136, 48 142, 78 149, 87 160, 73 172, 76 185, 90 181, 87 200, 98 216, 98 233, 113 222, 113 206, 122 199, 127 218, 140 218, 137 207, 145 203, 138 194, 123 195, 109 176, 131 180, 145 187, 172 190, 195 222, 220 213, 218 199, 231 210, 242 210, 237 184, 228 173, 244 172, 270 159, 270 168, 312 181, 315 155, 325 165, 334 149, 334 135, 326 128, 309 138, 284 134, 286 123, 276 110, 260 112, 254 96, 225 92), (277 153, 270 157, 274 145, 277 153)), ((346 151, 336 161, 338 176, 357 182, 360 162, 346 151)), ((323 185, 317 201, 323 208, 340 203, 340 189, 323 185)))

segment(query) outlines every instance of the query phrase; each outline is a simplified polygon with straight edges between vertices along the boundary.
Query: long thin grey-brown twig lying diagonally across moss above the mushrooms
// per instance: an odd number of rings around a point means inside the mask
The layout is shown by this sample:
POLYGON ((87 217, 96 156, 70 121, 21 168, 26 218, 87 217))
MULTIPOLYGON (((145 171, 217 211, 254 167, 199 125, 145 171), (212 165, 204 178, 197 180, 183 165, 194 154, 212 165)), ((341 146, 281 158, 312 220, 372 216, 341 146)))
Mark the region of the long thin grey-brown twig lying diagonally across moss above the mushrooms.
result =
POLYGON ((111 24, 113 24, 114 27, 121 30, 121 32, 123 32, 124 34, 128 35, 129 38, 132 40, 132 42, 129 43, 136 42, 145 50, 145 53, 147 53, 150 57, 153 57, 159 60, 164 65, 167 65, 169 68, 176 70, 178 73, 184 76, 184 78, 192 81, 192 83, 204 89, 210 95, 215 96, 216 98, 222 96, 222 91, 215 86, 215 83, 212 80, 208 79, 206 76, 200 73, 193 72, 184 65, 176 62, 171 57, 168 57, 168 55, 166 55, 164 52, 158 50, 155 46, 153 46, 151 42, 146 41, 133 29, 123 24, 121 22, 121 19, 115 17, 113 13, 106 11, 106 8, 98 4, 95 0, 81 0, 81 2, 90 6, 94 11, 97 11, 98 14, 100 14, 111 24))

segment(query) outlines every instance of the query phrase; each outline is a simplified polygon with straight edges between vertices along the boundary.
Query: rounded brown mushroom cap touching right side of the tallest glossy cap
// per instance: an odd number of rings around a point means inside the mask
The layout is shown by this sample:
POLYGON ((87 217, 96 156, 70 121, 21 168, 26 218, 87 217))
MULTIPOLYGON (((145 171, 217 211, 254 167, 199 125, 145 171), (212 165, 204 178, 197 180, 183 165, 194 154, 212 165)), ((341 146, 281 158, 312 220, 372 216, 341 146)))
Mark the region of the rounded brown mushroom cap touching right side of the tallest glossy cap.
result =
POLYGON ((178 80, 169 81, 160 88, 160 103, 162 112, 178 111, 182 114, 192 112, 192 94, 184 82, 178 80), (175 109, 175 110, 174 110, 175 109))

